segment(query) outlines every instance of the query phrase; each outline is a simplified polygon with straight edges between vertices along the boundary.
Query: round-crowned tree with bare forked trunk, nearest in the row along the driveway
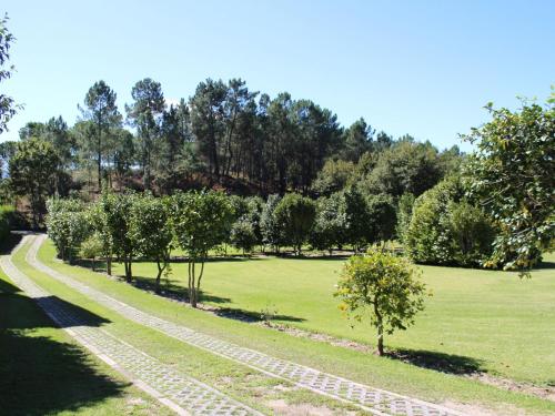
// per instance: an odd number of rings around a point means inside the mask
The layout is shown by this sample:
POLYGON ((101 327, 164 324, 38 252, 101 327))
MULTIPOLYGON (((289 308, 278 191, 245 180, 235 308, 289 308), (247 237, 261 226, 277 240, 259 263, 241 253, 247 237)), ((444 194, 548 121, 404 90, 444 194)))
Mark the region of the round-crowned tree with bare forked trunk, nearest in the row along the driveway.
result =
POLYGON ((172 199, 171 221, 179 245, 188 253, 189 302, 196 307, 209 251, 228 239, 233 209, 220 192, 176 193, 172 199))

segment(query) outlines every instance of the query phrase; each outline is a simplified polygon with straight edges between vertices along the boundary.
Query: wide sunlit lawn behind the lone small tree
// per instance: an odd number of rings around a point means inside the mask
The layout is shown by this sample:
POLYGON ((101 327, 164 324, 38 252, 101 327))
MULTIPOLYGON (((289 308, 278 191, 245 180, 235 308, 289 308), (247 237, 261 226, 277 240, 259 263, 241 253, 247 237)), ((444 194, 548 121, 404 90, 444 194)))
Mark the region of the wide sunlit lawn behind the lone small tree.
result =
MULTIPOLYGON (((521 280, 515 273, 422 266, 433 292, 416 325, 386 337, 386 346, 424 361, 443 359, 454 372, 485 371, 502 377, 555 384, 555 256, 521 280)), ((367 324, 351 327, 337 310, 334 285, 344 260, 219 260, 206 264, 204 301, 312 332, 374 344, 367 324)), ((183 292, 183 263, 172 264, 170 287, 183 292)), ((155 265, 133 272, 151 281, 155 265)), ((122 273, 120 267, 115 273, 122 273)))

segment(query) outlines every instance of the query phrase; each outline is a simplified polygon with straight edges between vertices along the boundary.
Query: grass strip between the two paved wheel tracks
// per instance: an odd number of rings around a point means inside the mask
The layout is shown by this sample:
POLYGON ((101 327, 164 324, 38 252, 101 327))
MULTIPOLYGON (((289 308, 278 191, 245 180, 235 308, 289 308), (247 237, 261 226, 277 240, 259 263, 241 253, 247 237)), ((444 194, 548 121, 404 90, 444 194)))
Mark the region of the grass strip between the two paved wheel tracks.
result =
POLYGON ((74 308, 81 308, 89 315, 92 314, 104 331, 182 374, 206 383, 265 414, 273 413, 272 403, 276 400, 284 400, 290 405, 323 406, 325 409, 340 414, 346 410, 356 412, 356 408, 352 406, 309 390, 293 389, 293 385, 287 382, 268 377, 249 367, 191 347, 158 331, 128 321, 30 266, 24 260, 28 248, 28 246, 23 247, 13 256, 13 263, 20 271, 52 295, 73 305, 74 308))

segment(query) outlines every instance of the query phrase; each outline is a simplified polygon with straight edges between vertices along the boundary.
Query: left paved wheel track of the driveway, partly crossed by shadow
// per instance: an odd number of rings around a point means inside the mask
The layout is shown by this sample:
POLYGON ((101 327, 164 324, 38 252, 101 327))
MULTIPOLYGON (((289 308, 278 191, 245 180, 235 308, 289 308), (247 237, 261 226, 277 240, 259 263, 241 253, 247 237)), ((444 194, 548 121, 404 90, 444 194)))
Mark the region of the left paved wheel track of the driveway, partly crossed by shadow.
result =
MULTIPOLYGON (((23 237, 14 252, 28 240, 23 237)), ((34 237, 31 237, 34 239, 34 237)), ((172 367, 117 339, 107 331, 90 326, 62 301, 34 284, 21 273, 8 255, 0 257, 0 266, 11 281, 60 327, 64 328, 80 344, 99 358, 122 373, 139 388, 182 415, 261 415, 243 404, 233 400, 214 388, 181 374, 172 367)))

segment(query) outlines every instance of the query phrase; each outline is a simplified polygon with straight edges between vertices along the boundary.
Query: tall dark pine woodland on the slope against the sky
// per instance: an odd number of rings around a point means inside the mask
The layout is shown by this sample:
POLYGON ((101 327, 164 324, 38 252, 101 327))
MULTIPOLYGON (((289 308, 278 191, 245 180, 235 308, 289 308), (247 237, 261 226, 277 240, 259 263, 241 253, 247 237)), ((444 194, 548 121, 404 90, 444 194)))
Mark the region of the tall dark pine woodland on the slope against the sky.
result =
MULTIPOLYGON (((410 135, 395 140, 364 119, 343 128, 313 101, 289 93, 271 99, 240 79, 209 79, 188 101, 169 106, 151 79, 137 82, 132 97, 123 115, 115 93, 99 81, 84 94, 74 125, 58 116, 21 129, 21 141, 39 139, 56 151, 51 193, 92 197, 108 183, 155 194, 215 186, 319 195, 364 182, 371 193, 418 195, 458 164, 456 146, 438 152, 410 135)), ((14 151, 16 143, 2 143, 4 164, 14 151)))

